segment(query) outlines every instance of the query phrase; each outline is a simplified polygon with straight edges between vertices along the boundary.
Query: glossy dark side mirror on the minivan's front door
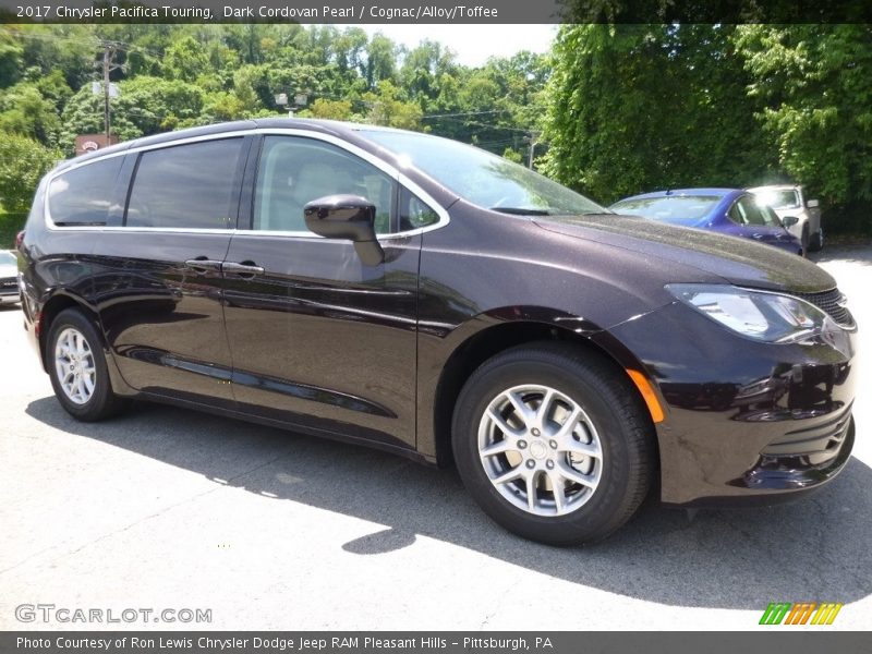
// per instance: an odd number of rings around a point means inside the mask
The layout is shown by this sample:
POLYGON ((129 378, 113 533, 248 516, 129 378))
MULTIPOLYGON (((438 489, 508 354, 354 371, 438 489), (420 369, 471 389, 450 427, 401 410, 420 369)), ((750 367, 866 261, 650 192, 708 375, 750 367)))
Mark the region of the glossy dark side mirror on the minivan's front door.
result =
POLYGON ((303 216, 310 231, 325 239, 354 243, 367 266, 385 261, 385 251, 375 237, 375 205, 360 195, 327 195, 307 203, 303 216))

